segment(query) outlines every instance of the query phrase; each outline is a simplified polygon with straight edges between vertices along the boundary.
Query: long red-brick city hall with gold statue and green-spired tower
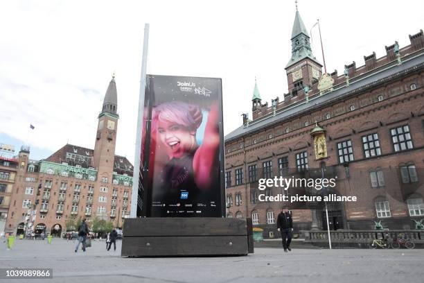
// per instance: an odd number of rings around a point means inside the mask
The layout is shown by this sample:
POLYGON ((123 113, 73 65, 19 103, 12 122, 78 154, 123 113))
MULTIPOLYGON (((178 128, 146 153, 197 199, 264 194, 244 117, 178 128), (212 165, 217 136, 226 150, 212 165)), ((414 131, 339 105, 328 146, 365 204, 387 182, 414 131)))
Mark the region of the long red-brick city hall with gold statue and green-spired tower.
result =
MULTIPOLYGON (((258 179, 325 176, 337 179, 331 194, 357 197, 327 204, 330 230, 370 230, 374 221, 414 229, 424 218, 423 31, 342 74, 325 74, 298 11, 291 40, 288 93, 268 105, 255 84, 252 119, 243 114, 224 138, 227 217, 251 217, 264 237, 276 237, 281 203, 260 195, 290 191, 259 190, 258 179)), ((292 209, 292 216, 295 232, 327 229, 322 207, 292 209)))

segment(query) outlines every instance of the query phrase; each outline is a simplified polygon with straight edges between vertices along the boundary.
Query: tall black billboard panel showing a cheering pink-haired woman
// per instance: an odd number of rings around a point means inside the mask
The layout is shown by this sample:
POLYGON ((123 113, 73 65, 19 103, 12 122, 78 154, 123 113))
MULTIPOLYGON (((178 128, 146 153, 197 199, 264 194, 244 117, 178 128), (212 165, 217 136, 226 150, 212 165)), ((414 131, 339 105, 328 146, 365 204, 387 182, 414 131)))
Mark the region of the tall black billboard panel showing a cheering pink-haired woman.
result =
POLYGON ((138 216, 224 216, 220 78, 147 75, 138 216))

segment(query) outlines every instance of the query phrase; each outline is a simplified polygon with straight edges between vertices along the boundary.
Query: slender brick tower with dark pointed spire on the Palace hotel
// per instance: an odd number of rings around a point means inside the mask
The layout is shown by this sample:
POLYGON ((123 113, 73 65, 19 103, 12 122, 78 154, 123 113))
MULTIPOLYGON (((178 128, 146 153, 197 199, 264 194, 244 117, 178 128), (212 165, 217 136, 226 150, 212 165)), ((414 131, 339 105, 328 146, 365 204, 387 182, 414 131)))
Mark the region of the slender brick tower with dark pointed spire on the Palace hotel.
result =
POLYGON ((116 130, 119 118, 116 112, 117 108, 116 83, 113 75, 109 87, 107 87, 102 111, 98 114, 94 146, 94 166, 98 170, 98 178, 107 178, 107 182, 112 182, 110 174, 114 171, 116 130))

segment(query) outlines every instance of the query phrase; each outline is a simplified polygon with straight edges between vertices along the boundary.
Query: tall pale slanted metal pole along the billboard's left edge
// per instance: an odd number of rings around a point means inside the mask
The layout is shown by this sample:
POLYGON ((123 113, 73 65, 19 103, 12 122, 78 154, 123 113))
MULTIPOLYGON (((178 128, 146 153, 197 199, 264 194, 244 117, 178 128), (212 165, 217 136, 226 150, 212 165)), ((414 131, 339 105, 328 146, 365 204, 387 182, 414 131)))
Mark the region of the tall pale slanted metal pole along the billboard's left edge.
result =
POLYGON ((144 25, 144 39, 143 39, 143 58, 141 60, 141 77, 140 77, 140 91, 139 91, 139 114, 137 116, 137 131, 136 131, 136 145, 134 156, 134 175, 132 178, 132 194, 131 194, 131 211, 130 217, 136 218, 137 203, 139 200, 139 175, 140 175, 140 157, 141 157, 141 135, 143 130, 143 114, 144 114, 144 92, 145 92, 145 75, 147 70, 147 56, 149 45, 149 24, 144 25))

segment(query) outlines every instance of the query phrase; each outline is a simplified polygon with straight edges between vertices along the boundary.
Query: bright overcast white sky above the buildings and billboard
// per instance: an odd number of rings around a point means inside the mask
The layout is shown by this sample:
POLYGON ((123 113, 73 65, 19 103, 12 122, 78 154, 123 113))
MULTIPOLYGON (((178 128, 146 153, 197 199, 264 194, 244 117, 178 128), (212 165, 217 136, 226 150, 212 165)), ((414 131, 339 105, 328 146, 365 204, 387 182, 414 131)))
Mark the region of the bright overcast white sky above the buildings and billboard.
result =
MULTIPOLYGON (((423 1, 306 1, 319 18, 328 71, 364 64, 373 51, 424 26, 423 1)), ((255 76, 265 101, 288 92, 294 1, 2 1, 0 143, 31 146, 42 159, 67 142, 94 148, 97 116, 112 73, 118 89, 116 154, 134 162, 143 29, 148 74, 222 78, 224 132, 251 117, 255 76), (32 123, 34 130, 30 130, 32 123)), ((317 28, 312 51, 322 62, 317 28)))

